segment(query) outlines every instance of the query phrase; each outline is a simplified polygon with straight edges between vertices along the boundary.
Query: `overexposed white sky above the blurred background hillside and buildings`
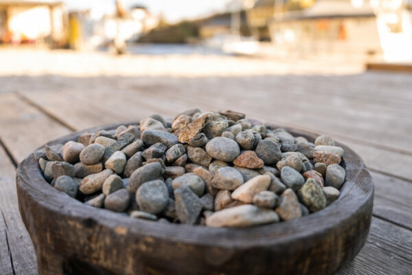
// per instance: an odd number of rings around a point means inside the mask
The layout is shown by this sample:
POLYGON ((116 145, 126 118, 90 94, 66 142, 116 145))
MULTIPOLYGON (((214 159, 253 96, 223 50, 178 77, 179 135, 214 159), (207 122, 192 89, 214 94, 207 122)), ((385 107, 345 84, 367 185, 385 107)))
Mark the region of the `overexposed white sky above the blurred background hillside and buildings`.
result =
MULTIPOLYGON (((115 0, 63 0, 70 10, 98 7, 104 12, 113 12, 115 0)), ((166 21, 175 23, 182 19, 207 17, 222 12, 233 0, 123 0, 126 6, 144 5, 154 14, 162 14, 166 21)))

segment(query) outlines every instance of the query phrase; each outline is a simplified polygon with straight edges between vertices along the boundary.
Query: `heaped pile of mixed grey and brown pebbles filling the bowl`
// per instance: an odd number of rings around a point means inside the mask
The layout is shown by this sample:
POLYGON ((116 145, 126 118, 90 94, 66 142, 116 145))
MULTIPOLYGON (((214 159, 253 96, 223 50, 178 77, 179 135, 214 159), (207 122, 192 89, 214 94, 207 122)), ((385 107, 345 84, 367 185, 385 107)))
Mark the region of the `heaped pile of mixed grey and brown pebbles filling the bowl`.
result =
POLYGON ((213 227, 289 221, 322 210, 345 181, 343 148, 268 129, 236 111, 83 133, 35 153, 56 189, 137 219, 213 227))

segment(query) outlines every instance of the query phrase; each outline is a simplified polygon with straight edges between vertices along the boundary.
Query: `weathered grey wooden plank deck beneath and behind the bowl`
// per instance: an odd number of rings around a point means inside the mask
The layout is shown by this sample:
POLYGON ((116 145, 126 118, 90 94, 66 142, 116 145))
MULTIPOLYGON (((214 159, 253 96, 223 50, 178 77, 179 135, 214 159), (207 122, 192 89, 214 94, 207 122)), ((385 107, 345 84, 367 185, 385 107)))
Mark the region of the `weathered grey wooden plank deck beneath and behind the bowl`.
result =
POLYGON ((0 274, 37 274, 14 183, 16 164, 34 148, 87 127, 151 113, 171 116, 192 107, 242 111, 249 118, 332 135, 354 148, 374 178, 374 216, 363 250, 338 274, 412 274, 411 75, 327 75, 327 69, 283 65, 288 69, 282 73, 250 76, 84 78, 3 72, 0 274))

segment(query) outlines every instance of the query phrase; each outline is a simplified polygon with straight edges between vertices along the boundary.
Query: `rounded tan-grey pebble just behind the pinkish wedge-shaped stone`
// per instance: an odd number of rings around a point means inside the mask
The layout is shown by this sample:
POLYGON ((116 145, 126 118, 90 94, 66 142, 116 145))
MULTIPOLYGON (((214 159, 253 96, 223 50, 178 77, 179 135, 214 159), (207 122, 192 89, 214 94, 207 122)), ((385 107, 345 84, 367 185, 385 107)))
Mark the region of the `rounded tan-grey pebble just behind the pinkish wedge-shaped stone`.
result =
POLYGON ((235 168, 227 166, 219 168, 216 171, 216 174, 211 180, 211 185, 218 189, 235 190, 241 186, 243 182, 242 174, 235 168))

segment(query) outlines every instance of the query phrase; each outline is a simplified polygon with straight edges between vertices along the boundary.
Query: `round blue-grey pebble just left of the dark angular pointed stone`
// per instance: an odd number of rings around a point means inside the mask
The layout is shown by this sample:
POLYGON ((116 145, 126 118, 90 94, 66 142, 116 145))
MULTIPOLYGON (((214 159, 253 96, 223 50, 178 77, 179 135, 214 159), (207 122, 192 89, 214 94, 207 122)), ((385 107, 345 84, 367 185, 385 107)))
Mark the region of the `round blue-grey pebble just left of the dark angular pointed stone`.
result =
POLYGON ((136 201, 141 211, 158 214, 168 206, 169 192, 161 180, 147 181, 136 192, 136 201))

